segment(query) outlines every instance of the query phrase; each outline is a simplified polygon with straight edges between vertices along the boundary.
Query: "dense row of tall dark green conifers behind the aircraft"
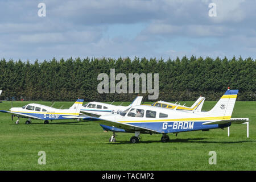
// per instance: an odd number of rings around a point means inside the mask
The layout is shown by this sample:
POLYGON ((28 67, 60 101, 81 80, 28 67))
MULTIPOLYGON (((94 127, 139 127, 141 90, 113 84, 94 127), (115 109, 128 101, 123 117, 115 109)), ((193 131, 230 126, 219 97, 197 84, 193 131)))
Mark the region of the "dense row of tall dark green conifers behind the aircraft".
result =
MULTIPOLYGON (((0 60, 0 100, 37 101, 132 101, 137 93, 103 93, 97 91, 100 73, 158 73, 159 97, 163 101, 195 101, 204 96, 217 101, 228 86, 238 89, 238 101, 256 101, 256 63, 251 57, 212 59, 184 56, 182 59, 123 59, 72 57, 49 61, 0 60)), ((154 81, 154 79, 153 79, 154 81)), ((115 81, 117 84, 118 81, 115 81)), ((154 84, 153 84, 154 85, 154 84)), ((143 101, 148 100, 148 93, 143 101)))

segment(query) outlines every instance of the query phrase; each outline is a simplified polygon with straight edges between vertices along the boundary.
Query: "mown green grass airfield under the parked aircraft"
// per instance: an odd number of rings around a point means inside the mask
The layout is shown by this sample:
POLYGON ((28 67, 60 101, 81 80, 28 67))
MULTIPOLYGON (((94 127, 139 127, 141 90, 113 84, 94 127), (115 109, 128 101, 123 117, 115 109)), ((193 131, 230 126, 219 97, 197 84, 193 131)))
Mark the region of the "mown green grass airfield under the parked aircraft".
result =
MULTIPOLYGON (((203 110, 210 110, 216 102, 205 101, 203 110)), ((28 103, 15 101, 13 106, 28 103)), ((63 105, 65 109, 73 103, 56 102, 53 107, 63 105)), ((192 104, 186 102, 186 106, 192 104)), ((0 103, 0 110, 10 108, 11 102, 0 103)), ((94 122, 61 120, 45 125, 32 120, 26 125, 27 119, 20 118, 15 125, 18 118, 11 121, 10 114, 0 113, 0 170, 256 170, 256 102, 237 101, 232 118, 238 117, 250 118, 249 138, 246 125, 240 124, 230 127, 230 137, 225 128, 184 132, 177 137, 168 134, 168 143, 160 142, 162 134, 141 134, 141 142, 131 144, 134 134, 129 133, 116 133, 117 142, 109 143, 112 132, 104 132, 94 122), (45 165, 38 164, 39 151, 46 152, 45 165), (209 151, 216 151, 216 165, 209 164, 209 151)))

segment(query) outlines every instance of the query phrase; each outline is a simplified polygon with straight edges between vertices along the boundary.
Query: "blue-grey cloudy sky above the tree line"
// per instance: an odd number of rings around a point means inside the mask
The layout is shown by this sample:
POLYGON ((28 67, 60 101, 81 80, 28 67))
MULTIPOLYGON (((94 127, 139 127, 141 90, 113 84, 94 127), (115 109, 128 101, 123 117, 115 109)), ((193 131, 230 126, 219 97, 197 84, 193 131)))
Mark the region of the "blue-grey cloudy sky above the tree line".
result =
POLYGON ((256 59, 255 0, 4 0, 0 15, 0 59, 256 59))

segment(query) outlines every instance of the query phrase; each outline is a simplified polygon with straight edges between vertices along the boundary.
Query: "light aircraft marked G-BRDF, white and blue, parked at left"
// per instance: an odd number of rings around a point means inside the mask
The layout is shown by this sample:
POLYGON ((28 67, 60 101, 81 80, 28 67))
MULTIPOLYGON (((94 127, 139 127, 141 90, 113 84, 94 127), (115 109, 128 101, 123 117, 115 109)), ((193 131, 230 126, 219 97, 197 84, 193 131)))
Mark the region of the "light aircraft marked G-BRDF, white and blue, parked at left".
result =
POLYGON ((81 119, 86 118, 86 115, 79 115, 80 109, 84 100, 77 100, 69 109, 55 109, 53 107, 40 105, 40 104, 28 104, 23 107, 12 107, 10 111, 0 110, 2 113, 10 113, 11 118, 18 117, 16 124, 19 123, 19 118, 28 118, 26 124, 31 123, 31 119, 44 120, 45 124, 49 123, 49 120, 59 119, 81 119))

